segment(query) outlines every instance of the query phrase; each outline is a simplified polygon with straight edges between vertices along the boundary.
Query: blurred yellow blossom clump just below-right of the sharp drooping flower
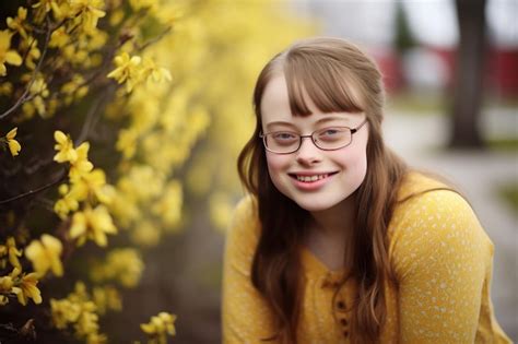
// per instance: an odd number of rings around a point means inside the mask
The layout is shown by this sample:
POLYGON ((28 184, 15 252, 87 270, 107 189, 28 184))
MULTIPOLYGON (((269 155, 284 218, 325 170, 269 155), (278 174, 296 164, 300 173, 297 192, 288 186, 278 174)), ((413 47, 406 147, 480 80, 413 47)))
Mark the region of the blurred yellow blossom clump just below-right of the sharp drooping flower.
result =
POLYGON ((95 264, 91 271, 93 281, 118 282, 125 287, 136 287, 142 276, 144 264, 136 249, 117 248, 108 252, 104 262, 95 264))

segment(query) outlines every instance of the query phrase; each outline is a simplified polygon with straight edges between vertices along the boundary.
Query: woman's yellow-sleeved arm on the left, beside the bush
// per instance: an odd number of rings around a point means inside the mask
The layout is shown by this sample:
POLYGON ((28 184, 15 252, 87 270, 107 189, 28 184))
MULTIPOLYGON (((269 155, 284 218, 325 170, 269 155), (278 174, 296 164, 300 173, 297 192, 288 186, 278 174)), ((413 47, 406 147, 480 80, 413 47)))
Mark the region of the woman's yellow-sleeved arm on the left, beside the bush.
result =
MULTIPOLYGON (((223 343, 266 343, 272 331, 270 310, 250 281, 259 222, 251 198, 236 207, 227 233, 223 262, 223 343)), ((268 342, 272 343, 272 342, 268 342)))

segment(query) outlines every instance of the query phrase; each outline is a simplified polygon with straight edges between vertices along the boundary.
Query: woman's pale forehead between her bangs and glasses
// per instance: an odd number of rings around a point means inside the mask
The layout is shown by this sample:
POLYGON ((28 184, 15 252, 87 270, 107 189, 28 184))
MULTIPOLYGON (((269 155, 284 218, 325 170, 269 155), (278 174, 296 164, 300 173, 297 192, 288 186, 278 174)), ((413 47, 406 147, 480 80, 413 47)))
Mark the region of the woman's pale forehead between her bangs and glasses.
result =
POLYGON ((350 112, 322 112, 309 96, 306 95, 304 99, 311 110, 311 115, 293 116, 284 74, 281 73, 272 78, 264 88, 260 104, 263 129, 284 124, 304 128, 320 122, 335 122, 346 126, 360 116, 360 114, 350 112))

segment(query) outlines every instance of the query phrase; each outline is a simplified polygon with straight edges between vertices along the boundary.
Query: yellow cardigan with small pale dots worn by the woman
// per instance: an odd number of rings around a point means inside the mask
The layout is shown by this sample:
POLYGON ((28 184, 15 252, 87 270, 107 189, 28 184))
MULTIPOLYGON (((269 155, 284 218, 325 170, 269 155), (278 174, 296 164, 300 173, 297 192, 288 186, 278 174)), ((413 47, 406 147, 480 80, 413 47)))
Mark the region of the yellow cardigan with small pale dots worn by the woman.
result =
MULTIPOLYGON (((412 173, 399 198, 444 185, 412 173)), ((236 207, 225 246, 223 343, 274 343, 266 300, 254 288, 250 269, 260 226, 251 197, 236 207)), ((498 325, 490 299, 493 242, 470 205, 448 190, 431 191, 400 203, 388 228, 389 259, 399 290, 386 283, 387 321, 381 343, 510 343, 498 325)), ((332 296, 343 271, 329 271, 302 249, 304 296, 297 340, 349 343, 348 312, 355 283, 332 296)))

